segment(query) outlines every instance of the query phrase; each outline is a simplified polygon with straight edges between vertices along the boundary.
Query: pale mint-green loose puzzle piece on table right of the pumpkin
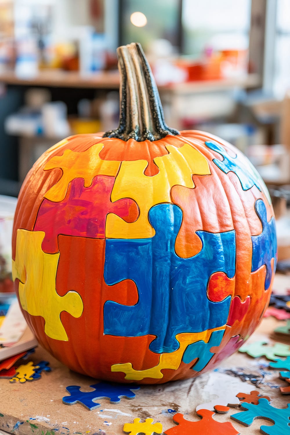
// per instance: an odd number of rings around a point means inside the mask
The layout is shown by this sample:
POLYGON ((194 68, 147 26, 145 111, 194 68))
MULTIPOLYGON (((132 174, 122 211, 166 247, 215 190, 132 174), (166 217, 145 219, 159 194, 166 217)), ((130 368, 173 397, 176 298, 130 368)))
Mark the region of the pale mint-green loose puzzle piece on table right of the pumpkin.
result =
POLYGON ((266 341, 255 341, 254 343, 243 345, 239 349, 239 352, 247 352, 253 358, 265 356, 268 359, 275 360, 277 356, 290 356, 290 347, 282 343, 275 343, 271 346, 266 341))

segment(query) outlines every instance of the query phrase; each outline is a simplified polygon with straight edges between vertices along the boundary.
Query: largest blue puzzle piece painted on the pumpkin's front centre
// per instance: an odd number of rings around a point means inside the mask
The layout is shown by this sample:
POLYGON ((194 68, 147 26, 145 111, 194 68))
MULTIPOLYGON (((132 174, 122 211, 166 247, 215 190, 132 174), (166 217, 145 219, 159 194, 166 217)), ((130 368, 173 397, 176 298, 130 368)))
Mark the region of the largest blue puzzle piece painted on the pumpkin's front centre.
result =
POLYGON ((220 302, 207 298, 210 275, 235 274, 235 231, 197 231, 202 249, 191 258, 175 253, 182 211, 174 204, 158 204, 149 211, 156 234, 144 239, 106 239, 104 278, 114 285, 132 279, 138 289, 136 305, 104 304, 104 333, 136 337, 156 335, 156 353, 179 348, 176 335, 201 332, 227 322, 230 296, 220 302))

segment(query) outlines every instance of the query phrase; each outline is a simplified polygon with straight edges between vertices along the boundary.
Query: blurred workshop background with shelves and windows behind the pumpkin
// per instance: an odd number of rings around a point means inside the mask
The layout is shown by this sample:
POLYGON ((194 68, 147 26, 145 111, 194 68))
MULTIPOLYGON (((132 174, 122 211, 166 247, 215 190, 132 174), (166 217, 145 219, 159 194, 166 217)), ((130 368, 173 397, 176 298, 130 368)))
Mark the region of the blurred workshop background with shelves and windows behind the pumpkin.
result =
POLYGON ((116 48, 130 42, 167 124, 217 134, 258 168, 289 258, 290 0, 0 0, 0 194, 17 197, 63 137, 117 127, 116 48))

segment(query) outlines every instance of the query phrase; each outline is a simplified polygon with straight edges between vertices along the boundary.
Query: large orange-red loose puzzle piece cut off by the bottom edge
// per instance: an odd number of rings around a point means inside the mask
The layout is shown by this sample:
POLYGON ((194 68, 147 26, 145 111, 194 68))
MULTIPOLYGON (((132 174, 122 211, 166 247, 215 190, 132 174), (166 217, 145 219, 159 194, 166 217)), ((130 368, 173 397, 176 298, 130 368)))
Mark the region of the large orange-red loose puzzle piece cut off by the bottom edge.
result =
POLYGON ((167 429, 164 431, 165 435, 191 435, 191 434, 203 434, 203 435, 239 435, 238 432, 230 422, 217 422, 213 419, 215 412, 208 409, 200 409, 197 415, 202 417, 198 422, 190 422, 185 420, 183 414, 177 413, 173 415, 173 422, 178 426, 167 429))

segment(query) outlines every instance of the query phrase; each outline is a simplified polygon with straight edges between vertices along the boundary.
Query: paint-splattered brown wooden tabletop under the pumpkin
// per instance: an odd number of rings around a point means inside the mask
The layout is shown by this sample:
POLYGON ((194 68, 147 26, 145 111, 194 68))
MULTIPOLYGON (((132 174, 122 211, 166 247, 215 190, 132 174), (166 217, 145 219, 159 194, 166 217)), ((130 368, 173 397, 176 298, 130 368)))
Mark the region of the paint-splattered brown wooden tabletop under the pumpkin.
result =
MULTIPOLYGON (((264 318, 249 342, 269 339, 278 325, 281 322, 275 318, 264 318)), ((290 396, 282 395, 278 388, 287 386, 287 383, 279 378, 278 370, 268 368, 270 361, 265 358, 254 359, 239 352, 223 361, 215 371, 185 381, 156 386, 142 385, 139 391, 135 391, 136 398, 133 400, 121 398, 120 403, 114 405, 107 399, 100 399, 100 408, 93 411, 80 404, 65 405, 62 397, 68 395, 68 385, 80 385, 83 391, 90 391, 88 387, 96 383, 94 379, 70 371, 41 347, 36 349, 30 360, 35 363, 47 360, 52 371, 43 373, 40 380, 24 384, 11 384, 7 379, 0 379, 0 429, 16 435, 118 435, 124 433, 124 423, 133 423, 134 418, 143 420, 148 417, 154 418, 154 422, 161 422, 163 430, 166 430, 175 426, 173 413, 168 410, 181 412, 187 420, 197 421, 197 405, 210 402, 229 391, 235 396, 239 392, 258 389, 262 395, 270 396, 271 405, 278 408, 286 408, 287 402, 290 402, 290 396), (238 373, 252 378, 255 376, 260 383, 255 385, 249 379, 242 381, 238 373), (221 385, 218 390, 217 385, 221 385)), ((228 414, 217 414, 215 419, 219 422, 232 422, 242 435, 258 435, 260 425, 272 424, 257 419, 250 427, 245 427, 230 419, 230 414, 239 411, 239 408, 231 408, 228 414)))

